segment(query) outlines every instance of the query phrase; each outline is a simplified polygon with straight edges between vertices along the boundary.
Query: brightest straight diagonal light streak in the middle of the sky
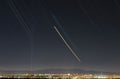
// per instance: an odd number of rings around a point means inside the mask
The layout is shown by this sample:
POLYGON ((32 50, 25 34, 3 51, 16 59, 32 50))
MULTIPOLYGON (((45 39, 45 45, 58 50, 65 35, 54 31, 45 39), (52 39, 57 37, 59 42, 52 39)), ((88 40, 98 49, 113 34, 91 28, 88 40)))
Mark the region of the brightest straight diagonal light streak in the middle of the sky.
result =
POLYGON ((77 61, 80 62, 80 58, 76 55, 76 53, 73 51, 73 49, 70 47, 70 45, 67 43, 67 41, 64 39, 64 37, 62 36, 62 34, 59 32, 59 30, 57 29, 56 26, 54 26, 54 29, 56 30, 56 32, 58 33, 58 35, 61 37, 61 39, 63 40, 63 42, 65 43, 65 45, 68 47, 68 49, 71 51, 71 53, 74 55, 74 57, 77 59, 77 61))

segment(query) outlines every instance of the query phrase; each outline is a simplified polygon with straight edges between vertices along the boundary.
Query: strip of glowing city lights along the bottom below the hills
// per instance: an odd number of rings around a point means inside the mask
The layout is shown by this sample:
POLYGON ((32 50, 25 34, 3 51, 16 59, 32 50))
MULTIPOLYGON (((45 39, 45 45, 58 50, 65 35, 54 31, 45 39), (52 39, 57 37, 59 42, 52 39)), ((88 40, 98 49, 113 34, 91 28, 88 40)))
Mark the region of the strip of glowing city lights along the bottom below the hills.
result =
POLYGON ((0 78, 38 78, 38 79, 119 79, 120 75, 103 74, 0 74, 0 78))

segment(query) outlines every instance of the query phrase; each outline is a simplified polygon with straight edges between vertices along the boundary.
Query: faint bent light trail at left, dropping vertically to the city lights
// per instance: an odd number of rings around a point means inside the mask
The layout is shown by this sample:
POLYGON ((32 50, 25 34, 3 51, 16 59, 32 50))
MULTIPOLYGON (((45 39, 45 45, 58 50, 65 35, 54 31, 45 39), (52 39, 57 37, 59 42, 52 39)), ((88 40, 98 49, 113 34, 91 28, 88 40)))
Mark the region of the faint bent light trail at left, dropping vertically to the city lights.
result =
POLYGON ((33 70, 33 31, 30 25, 25 21, 25 18, 22 16, 22 14, 17 9, 17 6, 15 5, 14 0, 9 0, 8 4, 12 12, 15 14, 18 22, 25 29, 27 35, 29 36, 29 39, 30 39, 30 71, 32 72, 33 70))

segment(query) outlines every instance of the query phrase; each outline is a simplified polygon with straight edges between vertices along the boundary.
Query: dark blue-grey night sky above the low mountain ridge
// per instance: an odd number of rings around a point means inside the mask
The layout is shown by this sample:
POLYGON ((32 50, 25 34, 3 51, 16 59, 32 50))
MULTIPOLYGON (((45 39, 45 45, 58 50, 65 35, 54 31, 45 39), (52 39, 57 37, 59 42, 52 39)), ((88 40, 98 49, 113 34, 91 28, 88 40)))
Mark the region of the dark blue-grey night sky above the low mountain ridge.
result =
POLYGON ((0 69, 120 70, 120 1, 1 0, 0 69), (61 26, 55 22, 54 15, 61 26), (78 62, 53 26, 80 57, 78 62))

